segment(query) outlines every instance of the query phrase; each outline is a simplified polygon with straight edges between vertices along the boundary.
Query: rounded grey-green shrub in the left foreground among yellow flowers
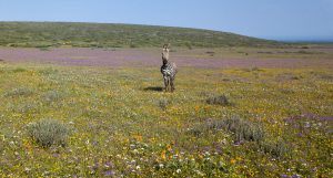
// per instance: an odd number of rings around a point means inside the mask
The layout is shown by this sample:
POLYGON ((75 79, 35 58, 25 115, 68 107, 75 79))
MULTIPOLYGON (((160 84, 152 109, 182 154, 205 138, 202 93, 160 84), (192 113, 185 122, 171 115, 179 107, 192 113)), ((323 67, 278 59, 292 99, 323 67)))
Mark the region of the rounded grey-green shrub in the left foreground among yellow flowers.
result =
POLYGON ((29 136, 41 147, 64 146, 69 129, 57 119, 42 119, 28 125, 29 136))

